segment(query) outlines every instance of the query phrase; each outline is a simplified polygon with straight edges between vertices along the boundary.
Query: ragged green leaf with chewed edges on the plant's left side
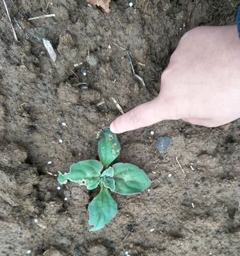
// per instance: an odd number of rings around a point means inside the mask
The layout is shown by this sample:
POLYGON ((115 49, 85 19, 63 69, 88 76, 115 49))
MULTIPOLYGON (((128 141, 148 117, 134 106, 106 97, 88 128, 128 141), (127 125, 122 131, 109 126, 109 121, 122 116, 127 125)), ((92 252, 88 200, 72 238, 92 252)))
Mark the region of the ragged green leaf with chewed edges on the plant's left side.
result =
POLYGON ((102 163, 97 160, 80 161, 70 166, 70 172, 58 172, 58 182, 65 184, 70 180, 85 185, 87 189, 95 189, 99 186, 102 168, 102 163))

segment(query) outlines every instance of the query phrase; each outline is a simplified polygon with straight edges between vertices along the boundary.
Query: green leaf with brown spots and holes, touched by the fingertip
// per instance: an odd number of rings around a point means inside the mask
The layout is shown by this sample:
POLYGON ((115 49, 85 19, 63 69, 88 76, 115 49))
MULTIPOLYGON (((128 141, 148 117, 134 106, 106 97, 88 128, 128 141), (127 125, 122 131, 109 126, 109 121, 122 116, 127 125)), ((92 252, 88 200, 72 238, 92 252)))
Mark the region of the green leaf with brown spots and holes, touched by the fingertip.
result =
POLYGON ((120 149, 120 143, 118 138, 116 138, 116 134, 111 132, 109 128, 103 129, 100 132, 98 153, 104 168, 108 168, 109 164, 119 156, 120 149))

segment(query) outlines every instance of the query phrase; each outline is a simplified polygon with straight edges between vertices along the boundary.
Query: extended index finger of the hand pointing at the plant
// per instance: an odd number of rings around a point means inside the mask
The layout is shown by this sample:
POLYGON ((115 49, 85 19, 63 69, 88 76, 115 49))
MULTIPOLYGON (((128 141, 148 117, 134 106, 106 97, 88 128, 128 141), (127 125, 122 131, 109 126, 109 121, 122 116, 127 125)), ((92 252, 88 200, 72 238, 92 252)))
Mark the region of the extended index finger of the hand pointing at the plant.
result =
POLYGON ((166 108, 159 97, 141 104, 122 116, 118 116, 110 125, 114 133, 132 131, 140 127, 156 124, 166 119, 166 108))

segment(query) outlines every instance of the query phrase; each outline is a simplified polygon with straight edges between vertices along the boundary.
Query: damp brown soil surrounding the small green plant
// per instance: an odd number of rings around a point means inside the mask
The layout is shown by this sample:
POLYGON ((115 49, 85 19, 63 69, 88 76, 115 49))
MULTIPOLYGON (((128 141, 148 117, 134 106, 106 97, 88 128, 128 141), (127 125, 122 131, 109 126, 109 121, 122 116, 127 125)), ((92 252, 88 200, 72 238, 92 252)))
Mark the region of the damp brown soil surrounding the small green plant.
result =
POLYGON ((99 232, 88 232, 92 193, 73 183, 58 190, 51 175, 95 159, 96 132, 119 115, 111 97, 124 111, 152 99, 180 37, 234 24, 240 1, 133 3, 112 1, 106 14, 84 0, 6 0, 15 42, 0 1, 0 255, 239 255, 239 120, 214 129, 161 122, 118 136, 118 161, 138 164, 153 184, 141 195, 113 195, 119 212, 99 232), (28 20, 47 13, 56 17, 28 20), (146 88, 115 44, 131 51, 146 88), (173 144, 159 154, 162 135, 173 144))

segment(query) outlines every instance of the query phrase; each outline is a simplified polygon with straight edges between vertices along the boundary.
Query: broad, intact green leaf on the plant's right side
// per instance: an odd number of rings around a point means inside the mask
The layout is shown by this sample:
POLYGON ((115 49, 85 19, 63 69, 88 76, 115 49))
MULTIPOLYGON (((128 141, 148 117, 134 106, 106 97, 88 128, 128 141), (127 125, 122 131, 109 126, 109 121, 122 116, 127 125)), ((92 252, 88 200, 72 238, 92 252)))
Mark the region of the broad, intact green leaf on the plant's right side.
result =
POLYGON ((138 166, 128 163, 113 164, 115 189, 111 190, 122 195, 141 193, 152 183, 147 174, 138 166))

